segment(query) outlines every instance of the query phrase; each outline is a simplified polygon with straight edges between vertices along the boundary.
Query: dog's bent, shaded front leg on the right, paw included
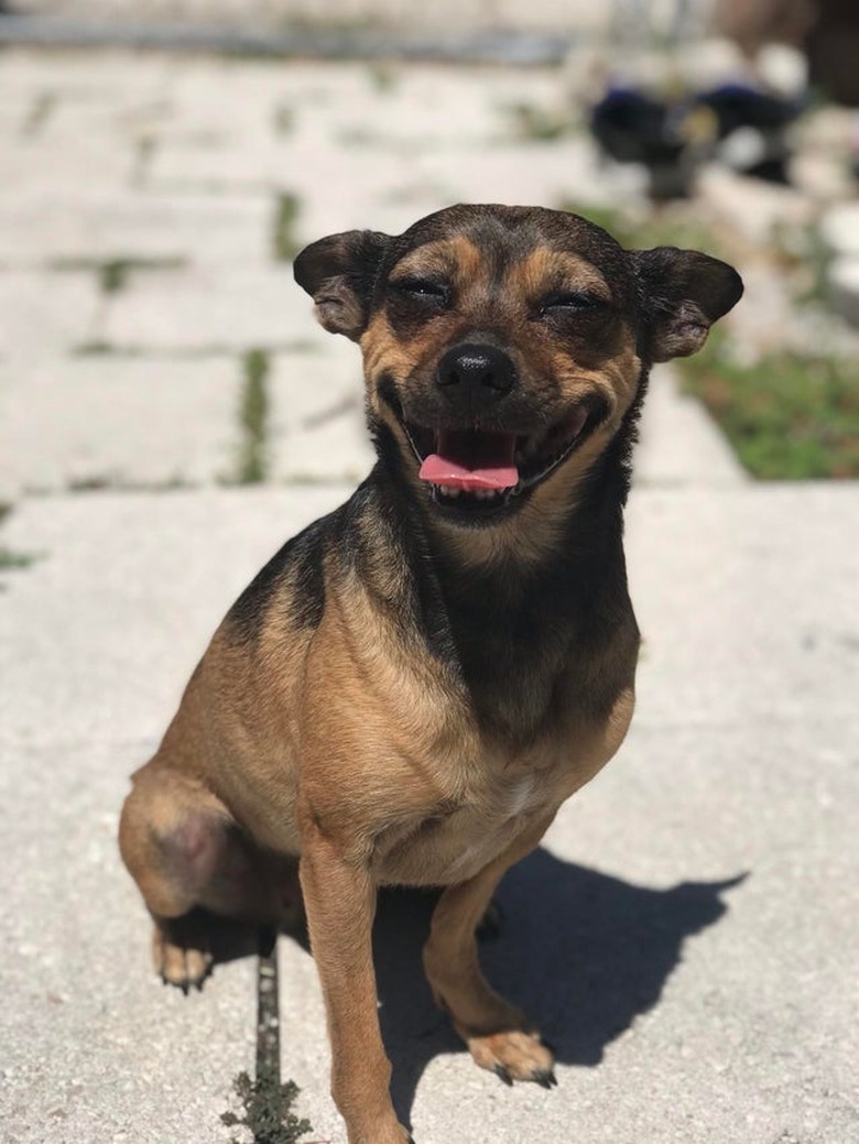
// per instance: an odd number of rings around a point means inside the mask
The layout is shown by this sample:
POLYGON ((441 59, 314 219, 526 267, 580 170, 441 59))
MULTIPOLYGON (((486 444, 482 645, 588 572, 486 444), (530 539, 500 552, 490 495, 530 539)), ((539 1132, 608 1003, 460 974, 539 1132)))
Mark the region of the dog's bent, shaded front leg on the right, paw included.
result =
POLYGON ((525 1016, 486 982, 477 956, 475 930, 506 871, 538 844, 551 819, 526 831, 478 874, 448 887, 432 914, 423 964, 436 1003, 482 1068, 507 1083, 555 1083, 552 1056, 525 1016))

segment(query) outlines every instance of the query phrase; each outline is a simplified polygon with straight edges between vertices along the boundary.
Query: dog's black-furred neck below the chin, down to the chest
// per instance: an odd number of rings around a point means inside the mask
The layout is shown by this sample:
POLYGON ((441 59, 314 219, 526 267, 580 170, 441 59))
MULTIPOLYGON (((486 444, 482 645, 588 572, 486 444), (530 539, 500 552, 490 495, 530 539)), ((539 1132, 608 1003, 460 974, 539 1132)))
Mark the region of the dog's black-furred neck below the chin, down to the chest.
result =
MULTIPOLYGON (((376 578, 380 604, 414 617, 480 723, 508 741, 532 739, 568 701, 572 661, 582 669, 619 625, 634 627, 622 547, 627 453, 623 442, 612 443, 576 484, 551 542, 544 531, 530 542, 525 514, 503 533, 454 532, 434 521, 425 491, 395 478, 384 459, 363 486, 374 506, 368 519, 385 522, 385 543, 406 570, 396 601, 384 599, 390 578, 376 578)), ((365 551, 371 543, 365 537, 365 551)), ((366 565, 363 575, 367 582, 366 565)))

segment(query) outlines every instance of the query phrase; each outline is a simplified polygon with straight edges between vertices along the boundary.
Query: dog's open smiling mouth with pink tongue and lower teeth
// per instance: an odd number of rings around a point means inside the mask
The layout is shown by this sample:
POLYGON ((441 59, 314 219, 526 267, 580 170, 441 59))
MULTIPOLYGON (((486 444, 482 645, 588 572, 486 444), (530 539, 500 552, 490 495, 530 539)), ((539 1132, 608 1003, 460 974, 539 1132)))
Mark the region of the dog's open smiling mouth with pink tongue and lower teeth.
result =
POLYGON ((563 464, 602 420, 596 404, 581 403, 532 434, 430 429, 403 419, 420 463, 419 477, 443 508, 492 514, 511 506, 563 464))

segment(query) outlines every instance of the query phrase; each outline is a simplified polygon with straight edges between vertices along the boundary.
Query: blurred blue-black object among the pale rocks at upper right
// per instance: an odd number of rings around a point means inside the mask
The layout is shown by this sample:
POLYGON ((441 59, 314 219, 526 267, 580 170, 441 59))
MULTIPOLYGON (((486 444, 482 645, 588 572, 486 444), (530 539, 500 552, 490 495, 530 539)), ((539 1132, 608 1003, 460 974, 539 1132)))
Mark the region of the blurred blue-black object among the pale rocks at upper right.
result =
POLYGON ((787 183, 787 127, 801 111, 800 103, 741 84, 674 101, 618 87, 592 109, 590 126, 605 154, 647 168, 650 194, 659 200, 687 197, 698 166, 709 159, 787 183))

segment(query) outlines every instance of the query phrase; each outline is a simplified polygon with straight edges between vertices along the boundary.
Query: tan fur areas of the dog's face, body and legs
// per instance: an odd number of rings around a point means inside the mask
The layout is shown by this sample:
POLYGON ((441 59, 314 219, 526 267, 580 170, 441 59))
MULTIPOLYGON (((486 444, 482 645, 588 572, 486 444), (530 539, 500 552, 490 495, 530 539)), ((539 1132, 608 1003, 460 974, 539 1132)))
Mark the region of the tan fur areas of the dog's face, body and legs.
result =
MULTIPOLYGON (((399 451, 413 503, 425 491, 381 387, 392 384, 404 400, 415 387, 431 389, 440 356, 470 331, 503 342, 538 426, 559 423, 589 399, 604 410, 515 515, 477 531, 432 525, 458 574, 494 575, 504 598, 512 563, 527 570, 558 555, 582 484, 635 399, 642 363, 634 333, 610 312, 587 337, 551 334, 534 319, 540 299, 554 289, 610 297, 600 270, 542 245, 499 270, 461 232, 419 244, 393 267, 392 281, 437 275, 455 295, 432 320, 398 327, 388 305, 368 313, 367 297, 352 289, 350 251, 369 257, 384 239, 356 235, 309 248, 302 276, 323 275, 323 320, 360 341, 371 413, 399 451)), ((475 927, 509 866, 622 742, 638 651, 621 556, 609 629, 519 681, 523 710, 548 714, 510 734, 503 718, 480 717, 479 697, 450 657, 431 652, 409 573, 391 558, 391 530, 376 510, 351 533, 359 553, 324 537, 308 541, 310 564, 286 562, 270 591, 250 591, 228 615, 156 756, 134 776, 120 826, 122 857, 154 919, 157 968, 183 987, 199 984, 212 960, 205 936, 189 929, 189 911, 279 921, 294 907, 300 876, 332 1041, 332 1091, 350 1144, 407 1138, 391 1106, 376 1016, 371 930, 380 885, 447 887, 424 951, 438 1003, 479 1065, 507 1079, 554 1081, 536 1032, 484 980, 475 927), (311 604, 312 615, 302 612, 311 604)))

